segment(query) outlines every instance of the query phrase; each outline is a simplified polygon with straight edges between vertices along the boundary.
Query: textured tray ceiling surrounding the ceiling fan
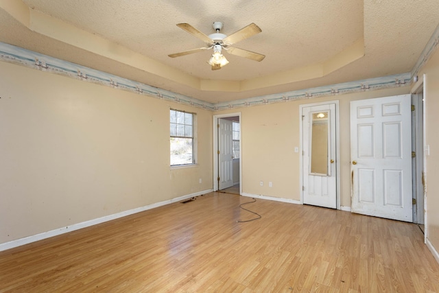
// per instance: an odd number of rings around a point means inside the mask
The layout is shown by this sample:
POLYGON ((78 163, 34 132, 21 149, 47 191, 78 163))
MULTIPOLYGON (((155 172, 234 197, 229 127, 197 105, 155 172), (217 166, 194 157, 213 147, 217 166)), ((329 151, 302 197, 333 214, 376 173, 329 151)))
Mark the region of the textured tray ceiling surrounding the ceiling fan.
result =
POLYGON ((0 41, 213 103, 409 72, 439 23, 437 0, 12 2, 0 41), (226 53, 211 71, 211 51, 167 56, 204 46, 176 23, 211 34, 213 21, 259 25, 235 47, 265 59, 226 53))

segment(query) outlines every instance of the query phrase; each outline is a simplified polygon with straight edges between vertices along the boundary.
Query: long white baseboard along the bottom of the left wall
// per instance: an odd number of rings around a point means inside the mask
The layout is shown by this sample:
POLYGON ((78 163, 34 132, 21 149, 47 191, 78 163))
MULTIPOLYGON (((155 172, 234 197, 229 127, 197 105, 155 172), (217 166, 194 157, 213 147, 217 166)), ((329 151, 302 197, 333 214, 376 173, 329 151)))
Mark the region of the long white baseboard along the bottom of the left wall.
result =
POLYGON ((132 215, 134 213, 140 213, 141 211, 147 211, 148 209, 154 209, 156 207, 161 207, 164 206, 166 204, 171 204, 174 202, 179 202, 181 200, 186 200, 187 198, 192 198, 194 196, 201 196, 202 194, 209 194, 210 192, 212 192, 212 189, 207 189, 204 191, 199 191, 199 192, 195 192, 194 194, 188 194, 186 196, 179 196, 178 198, 173 198, 171 200, 164 200, 163 202, 156 202, 154 204, 148 204, 147 206, 144 207, 138 207, 136 209, 130 209, 128 211, 122 211, 120 213, 114 213, 112 215, 106 215, 104 217, 101 218, 97 218, 97 219, 93 219, 93 220, 88 220, 85 222, 80 222, 78 224, 73 224, 70 226, 66 226, 66 227, 62 227, 62 228, 58 228, 55 230, 51 230, 51 231, 47 231, 47 232, 43 232, 43 233, 39 233, 36 235, 32 235, 32 236, 28 236, 28 237, 23 237, 20 239, 16 239, 16 240, 12 240, 10 242, 5 242, 0 244, 0 251, 3 250, 8 250, 10 248, 15 248, 18 246, 22 246, 25 244, 29 244, 32 242, 37 242, 39 240, 43 240, 43 239, 47 239, 50 237, 54 237, 54 236, 58 236, 64 233, 69 233, 71 231, 75 231, 75 230, 79 230, 82 228, 86 228, 89 226, 93 226, 96 224, 101 224, 103 222, 108 222, 111 220, 115 220, 118 218, 122 218, 122 217, 126 217, 127 215, 132 215))

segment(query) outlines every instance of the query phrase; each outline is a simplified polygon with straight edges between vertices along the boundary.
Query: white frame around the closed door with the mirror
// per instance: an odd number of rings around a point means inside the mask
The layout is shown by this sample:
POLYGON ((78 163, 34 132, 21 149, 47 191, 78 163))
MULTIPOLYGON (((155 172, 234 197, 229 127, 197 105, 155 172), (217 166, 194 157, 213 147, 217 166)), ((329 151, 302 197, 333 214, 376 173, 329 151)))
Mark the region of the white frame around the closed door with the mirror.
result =
MULTIPOLYGON (((303 204, 303 189, 301 186, 303 186, 303 120, 302 120, 302 113, 303 108, 306 107, 312 107, 312 106, 321 106, 321 105, 327 105, 327 104, 335 104, 335 186, 336 186, 336 200, 337 200, 337 209, 342 209, 341 202, 340 202, 340 110, 339 110, 339 101, 338 99, 332 100, 332 101, 326 101, 326 102, 318 102, 318 103, 311 103, 311 104, 300 104, 299 105, 299 130, 300 130, 300 148, 299 148, 299 155, 300 155, 300 204, 303 204)), ((350 211, 351 209, 346 208, 345 211, 350 211)))

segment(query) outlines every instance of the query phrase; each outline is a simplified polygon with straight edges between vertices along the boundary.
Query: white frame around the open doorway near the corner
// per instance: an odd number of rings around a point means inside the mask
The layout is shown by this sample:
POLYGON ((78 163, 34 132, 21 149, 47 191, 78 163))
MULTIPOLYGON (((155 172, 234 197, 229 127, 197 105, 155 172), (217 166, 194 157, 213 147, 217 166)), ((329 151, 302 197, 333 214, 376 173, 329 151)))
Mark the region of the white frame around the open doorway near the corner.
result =
POLYGON ((218 191, 218 119, 227 117, 239 117, 239 195, 242 194, 242 117, 241 112, 213 115, 213 191, 218 191))

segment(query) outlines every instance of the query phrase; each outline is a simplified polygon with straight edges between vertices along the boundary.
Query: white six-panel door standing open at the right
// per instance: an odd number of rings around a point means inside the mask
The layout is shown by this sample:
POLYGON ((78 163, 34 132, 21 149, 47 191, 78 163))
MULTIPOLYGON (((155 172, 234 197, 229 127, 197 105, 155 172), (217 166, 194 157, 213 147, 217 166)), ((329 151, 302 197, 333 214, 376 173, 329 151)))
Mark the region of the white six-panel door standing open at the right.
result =
POLYGON ((353 213, 412 222, 410 95, 351 102, 353 213))

